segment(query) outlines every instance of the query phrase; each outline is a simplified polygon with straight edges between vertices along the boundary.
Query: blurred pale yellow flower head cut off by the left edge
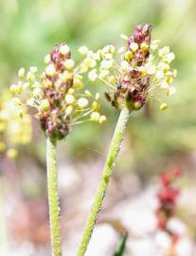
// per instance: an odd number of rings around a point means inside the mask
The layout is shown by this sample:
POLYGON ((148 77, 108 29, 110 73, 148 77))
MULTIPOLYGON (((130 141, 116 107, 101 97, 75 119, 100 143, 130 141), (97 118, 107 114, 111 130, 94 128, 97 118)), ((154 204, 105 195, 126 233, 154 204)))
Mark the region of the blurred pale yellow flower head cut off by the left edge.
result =
POLYGON ((0 100, 0 154, 15 157, 16 147, 30 142, 31 120, 23 116, 27 107, 18 99, 11 99, 8 91, 1 94, 0 100))

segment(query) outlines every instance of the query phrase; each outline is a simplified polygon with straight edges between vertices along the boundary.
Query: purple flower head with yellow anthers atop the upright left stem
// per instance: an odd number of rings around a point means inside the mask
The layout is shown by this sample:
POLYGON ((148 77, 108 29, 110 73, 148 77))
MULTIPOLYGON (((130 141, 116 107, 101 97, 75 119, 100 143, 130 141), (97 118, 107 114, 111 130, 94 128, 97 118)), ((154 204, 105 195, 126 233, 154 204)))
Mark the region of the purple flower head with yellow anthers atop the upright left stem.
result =
POLYGON ((27 74, 21 68, 18 73, 21 81, 12 84, 10 90, 30 95, 26 103, 36 108, 36 117, 47 137, 62 139, 74 124, 84 120, 99 123, 106 120, 98 112, 99 94, 93 97, 89 90, 83 90, 84 72, 80 65, 75 67, 66 44, 55 46, 45 57, 45 64, 42 75, 38 75, 36 67, 30 67, 27 74))

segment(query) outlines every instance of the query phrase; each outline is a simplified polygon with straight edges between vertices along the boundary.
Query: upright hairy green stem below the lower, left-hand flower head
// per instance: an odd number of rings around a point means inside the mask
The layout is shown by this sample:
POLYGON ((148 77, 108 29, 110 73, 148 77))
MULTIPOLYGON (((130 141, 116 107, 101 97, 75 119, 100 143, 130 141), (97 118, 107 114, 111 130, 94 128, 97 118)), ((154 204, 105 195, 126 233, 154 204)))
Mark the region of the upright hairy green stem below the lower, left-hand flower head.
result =
POLYGON ((56 143, 46 138, 47 191, 52 256, 62 256, 56 143))

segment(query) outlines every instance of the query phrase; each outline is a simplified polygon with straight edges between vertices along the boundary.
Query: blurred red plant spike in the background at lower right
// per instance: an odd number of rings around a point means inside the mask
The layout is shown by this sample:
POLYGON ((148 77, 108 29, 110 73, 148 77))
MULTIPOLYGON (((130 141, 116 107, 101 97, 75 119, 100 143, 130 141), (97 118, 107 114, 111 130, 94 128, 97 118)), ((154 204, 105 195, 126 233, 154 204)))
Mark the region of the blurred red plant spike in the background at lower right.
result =
POLYGON ((181 171, 177 167, 170 172, 162 174, 160 176, 161 187, 157 193, 159 202, 156 210, 158 228, 166 231, 174 241, 177 239, 177 234, 169 229, 169 220, 175 215, 179 190, 174 187, 174 182, 179 176, 181 176, 181 171))

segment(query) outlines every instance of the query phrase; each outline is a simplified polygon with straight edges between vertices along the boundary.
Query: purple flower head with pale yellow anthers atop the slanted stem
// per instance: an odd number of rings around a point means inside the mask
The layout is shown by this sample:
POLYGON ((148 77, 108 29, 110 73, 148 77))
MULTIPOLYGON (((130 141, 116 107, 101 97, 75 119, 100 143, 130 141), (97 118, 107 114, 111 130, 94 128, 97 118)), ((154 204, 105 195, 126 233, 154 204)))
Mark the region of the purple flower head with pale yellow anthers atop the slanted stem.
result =
MULTIPOLYGON (((138 25, 132 36, 121 37, 127 46, 118 49, 105 46, 97 52, 85 46, 80 48, 80 53, 86 56, 82 70, 91 69, 89 80, 95 82, 99 79, 109 85, 106 99, 118 109, 127 105, 133 111, 140 109, 151 96, 156 98, 157 89, 165 89, 168 96, 173 95, 176 90, 170 84, 177 72, 170 63, 175 56, 169 51, 169 46, 159 48, 158 40, 151 42, 151 25, 138 25), (116 62, 118 54, 120 64, 116 62)), ((165 110, 168 105, 161 102, 160 108, 165 110)))

